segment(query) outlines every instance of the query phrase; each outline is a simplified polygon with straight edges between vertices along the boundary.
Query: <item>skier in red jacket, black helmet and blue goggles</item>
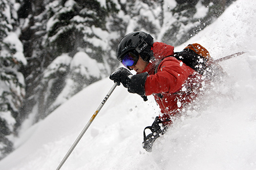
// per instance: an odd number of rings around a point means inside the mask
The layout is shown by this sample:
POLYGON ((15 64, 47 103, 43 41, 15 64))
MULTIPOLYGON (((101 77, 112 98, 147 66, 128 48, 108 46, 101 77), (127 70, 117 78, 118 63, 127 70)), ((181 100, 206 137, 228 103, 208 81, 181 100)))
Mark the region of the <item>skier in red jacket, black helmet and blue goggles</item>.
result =
POLYGON ((154 42, 153 37, 145 32, 132 32, 125 35, 117 46, 117 59, 129 70, 115 70, 110 79, 137 93, 146 100, 147 95, 154 98, 161 109, 150 129, 145 135, 143 148, 151 152, 155 140, 163 135, 173 120, 179 116, 203 88, 202 75, 174 56, 174 46, 163 42, 154 42))

